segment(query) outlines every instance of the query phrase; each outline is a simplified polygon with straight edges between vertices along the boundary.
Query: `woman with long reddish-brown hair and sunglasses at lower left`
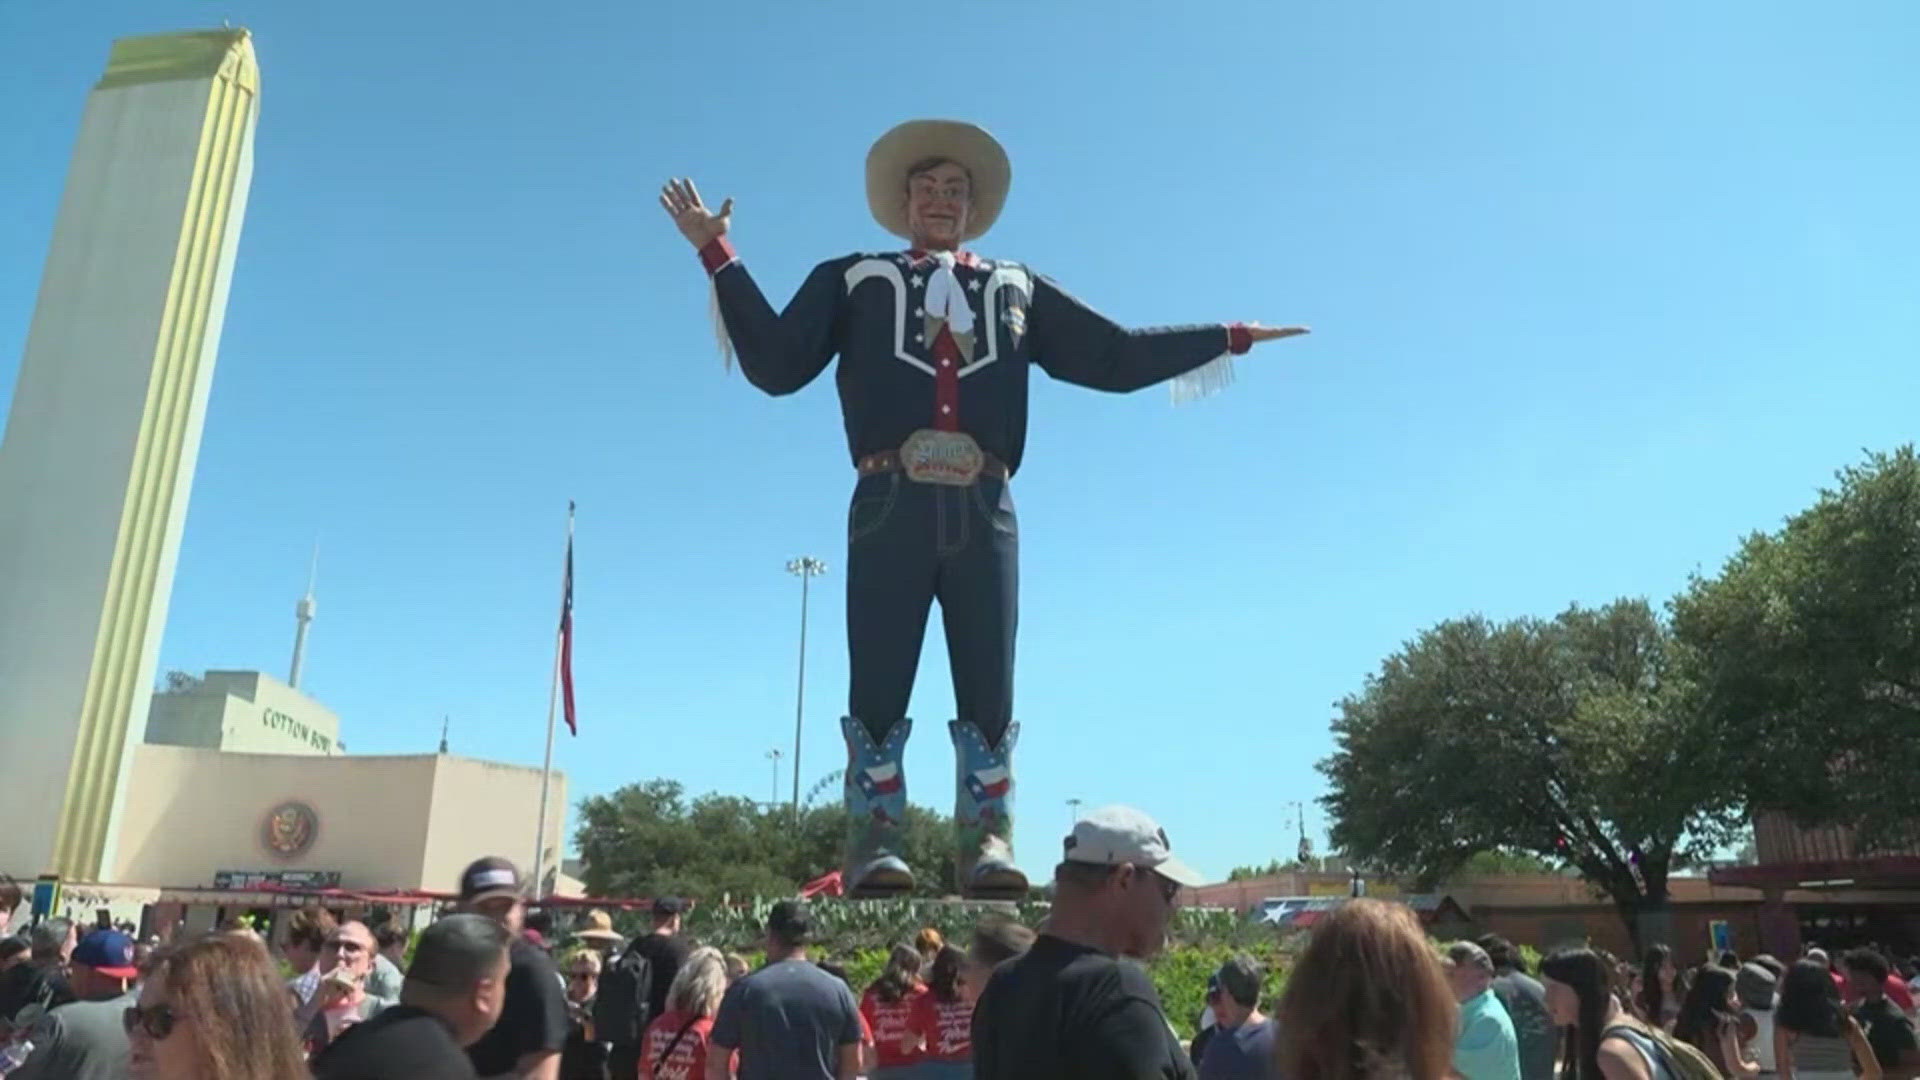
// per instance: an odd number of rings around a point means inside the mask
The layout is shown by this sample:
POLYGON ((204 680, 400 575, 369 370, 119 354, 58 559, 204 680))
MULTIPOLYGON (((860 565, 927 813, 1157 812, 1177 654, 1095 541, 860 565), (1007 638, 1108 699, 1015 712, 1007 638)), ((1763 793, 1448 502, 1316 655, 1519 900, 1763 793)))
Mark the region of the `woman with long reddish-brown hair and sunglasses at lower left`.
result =
POLYGON ((301 1080, 286 982, 259 938, 211 934, 159 953, 127 1009, 132 1080, 301 1080))

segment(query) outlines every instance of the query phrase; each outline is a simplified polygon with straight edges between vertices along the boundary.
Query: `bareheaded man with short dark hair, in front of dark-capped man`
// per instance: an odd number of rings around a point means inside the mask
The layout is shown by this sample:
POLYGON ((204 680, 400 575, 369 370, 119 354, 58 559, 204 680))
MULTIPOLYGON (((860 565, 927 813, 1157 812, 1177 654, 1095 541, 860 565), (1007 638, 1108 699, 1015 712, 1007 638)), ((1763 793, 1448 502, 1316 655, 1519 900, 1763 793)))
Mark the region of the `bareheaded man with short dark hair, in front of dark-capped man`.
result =
POLYGON ((449 915, 420 934, 399 1005, 353 1024, 313 1059, 315 1080, 474 1080, 463 1051, 507 999, 507 928, 449 915))

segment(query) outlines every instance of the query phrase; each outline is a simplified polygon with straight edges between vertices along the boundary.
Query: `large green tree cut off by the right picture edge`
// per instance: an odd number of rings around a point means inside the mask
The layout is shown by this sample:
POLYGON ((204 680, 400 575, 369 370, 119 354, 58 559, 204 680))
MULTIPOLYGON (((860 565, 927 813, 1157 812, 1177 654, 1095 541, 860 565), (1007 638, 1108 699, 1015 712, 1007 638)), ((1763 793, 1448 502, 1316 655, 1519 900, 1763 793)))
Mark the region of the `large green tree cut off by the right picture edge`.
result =
POLYGON ((1870 454, 1674 600, 1709 715, 1759 811, 1914 840, 1920 771, 1920 459, 1870 454))

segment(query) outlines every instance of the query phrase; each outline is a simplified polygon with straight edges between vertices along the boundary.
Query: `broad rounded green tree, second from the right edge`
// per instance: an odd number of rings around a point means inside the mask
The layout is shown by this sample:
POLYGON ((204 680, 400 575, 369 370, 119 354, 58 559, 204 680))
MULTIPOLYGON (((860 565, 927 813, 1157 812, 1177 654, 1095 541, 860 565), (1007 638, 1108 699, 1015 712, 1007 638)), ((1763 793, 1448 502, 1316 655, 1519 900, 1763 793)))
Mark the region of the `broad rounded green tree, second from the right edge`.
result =
POLYGON ((1480 851, 1571 867, 1638 940, 1676 855, 1730 834, 1718 746, 1640 600, 1442 623, 1340 701, 1334 847, 1421 888, 1480 851))

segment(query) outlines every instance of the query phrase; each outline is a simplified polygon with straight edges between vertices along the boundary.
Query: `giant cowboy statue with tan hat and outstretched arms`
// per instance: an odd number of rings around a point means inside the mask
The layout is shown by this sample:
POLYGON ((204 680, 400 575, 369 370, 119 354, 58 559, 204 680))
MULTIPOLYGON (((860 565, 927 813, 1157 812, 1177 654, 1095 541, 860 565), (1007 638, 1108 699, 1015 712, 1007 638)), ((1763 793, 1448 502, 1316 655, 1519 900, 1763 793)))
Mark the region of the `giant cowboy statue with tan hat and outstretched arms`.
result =
POLYGON ((927 607, 947 623, 958 757, 960 892, 1023 897, 1014 865, 1012 757, 1018 527, 1008 482, 1027 434, 1027 367, 1094 390, 1179 379, 1206 390, 1231 356, 1300 327, 1206 325, 1129 331, 1044 277, 962 250, 993 227, 1012 167, 970 123, 910 121, 866 158, 866 198, 904 252, 814 267, 774 311, 728 240, 733 200, 710 209, 691 181, 660 206, 712 275, 722 350, 747 380, 791 394, 839 356, 841 411, 858 471, 847 513, 847 865, 849 896, 899 896, 906 703, 927 607))

